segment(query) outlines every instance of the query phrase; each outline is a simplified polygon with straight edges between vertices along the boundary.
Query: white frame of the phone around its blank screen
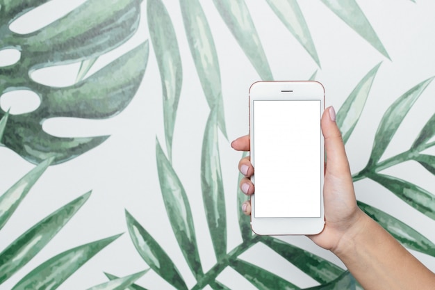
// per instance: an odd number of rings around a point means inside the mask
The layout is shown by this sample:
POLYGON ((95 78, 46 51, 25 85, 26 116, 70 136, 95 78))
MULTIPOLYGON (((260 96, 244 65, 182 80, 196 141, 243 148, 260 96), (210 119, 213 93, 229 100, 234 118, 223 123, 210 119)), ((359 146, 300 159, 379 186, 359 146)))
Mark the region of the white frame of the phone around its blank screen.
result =
MULTIPOLYGON (((254 120, 252 104, 255 100, 320 100, 322 111, 325 110, 325 88, 318 81, 257 81, 249 88, 249 136, 251 162, 255 168, 254 120)), ((319 126, 320 126, 319 116, 319 126)), ((252 231, 261 235, 318 234, 325 227, 325 210, 323 206, 323 184, 325 176, 325 145, 321 136, 321 193, 320 217, 315 218, 255 218, 255 193, 251 196, 252 231)), ((254 170, 255 171, 255 170, 254 170)), ((255 184, 255 174, 252 176, 255 184)))

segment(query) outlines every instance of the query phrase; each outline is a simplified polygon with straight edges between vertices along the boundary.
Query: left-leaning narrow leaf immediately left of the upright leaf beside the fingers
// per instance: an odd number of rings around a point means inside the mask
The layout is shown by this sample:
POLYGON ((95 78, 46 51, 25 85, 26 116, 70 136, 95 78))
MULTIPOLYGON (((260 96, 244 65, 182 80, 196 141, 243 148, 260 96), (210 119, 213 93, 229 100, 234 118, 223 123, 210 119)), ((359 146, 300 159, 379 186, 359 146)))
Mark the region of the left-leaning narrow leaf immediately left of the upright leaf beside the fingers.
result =
POLYGON ((156 159, 158 179, 167 216, 170 219, 172 230, 177 238, 181 252, 183 252, 193 275, 198 279, 204 275, 204 272, 202 271, 199 259, 197 239, 188 197, 177 173, 175 173, 174 168, 172 168, 171 163, 167 160, 165 153, 163 153, 157 138, 156 159))

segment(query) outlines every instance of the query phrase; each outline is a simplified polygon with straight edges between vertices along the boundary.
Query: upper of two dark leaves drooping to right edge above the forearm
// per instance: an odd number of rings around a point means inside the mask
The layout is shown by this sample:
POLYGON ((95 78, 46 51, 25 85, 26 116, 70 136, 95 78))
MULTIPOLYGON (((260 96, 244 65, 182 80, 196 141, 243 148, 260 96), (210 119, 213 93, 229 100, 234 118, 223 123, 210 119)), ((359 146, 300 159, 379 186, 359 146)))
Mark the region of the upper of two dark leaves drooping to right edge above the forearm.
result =
POLYGON ((414 209, 435 220, 435 195, 397 177, 372 173, 368 177, 394 193, 414 209))

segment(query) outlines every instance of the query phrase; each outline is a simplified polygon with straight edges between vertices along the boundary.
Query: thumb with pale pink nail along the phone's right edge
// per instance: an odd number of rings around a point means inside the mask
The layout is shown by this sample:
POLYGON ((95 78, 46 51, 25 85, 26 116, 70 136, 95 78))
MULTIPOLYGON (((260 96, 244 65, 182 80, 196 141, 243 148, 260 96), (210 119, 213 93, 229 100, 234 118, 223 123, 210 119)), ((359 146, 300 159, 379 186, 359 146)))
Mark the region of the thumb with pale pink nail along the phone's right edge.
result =
POLYGON ((337 177, 350 176, 345 145, 336 123, 336 112, 333 106, 329 106, 323 113, 321 125, 325 137, 327 173, 337 177))

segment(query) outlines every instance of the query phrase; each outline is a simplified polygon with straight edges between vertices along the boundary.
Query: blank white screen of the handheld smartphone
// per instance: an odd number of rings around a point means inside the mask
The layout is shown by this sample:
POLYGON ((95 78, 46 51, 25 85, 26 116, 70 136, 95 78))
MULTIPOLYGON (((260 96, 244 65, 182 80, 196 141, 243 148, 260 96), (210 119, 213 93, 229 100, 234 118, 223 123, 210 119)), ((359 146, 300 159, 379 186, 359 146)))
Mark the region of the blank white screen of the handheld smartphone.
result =
POLYGON ((255 217, 320 217, 320 100, 252 105, 255 217))

